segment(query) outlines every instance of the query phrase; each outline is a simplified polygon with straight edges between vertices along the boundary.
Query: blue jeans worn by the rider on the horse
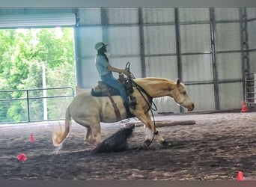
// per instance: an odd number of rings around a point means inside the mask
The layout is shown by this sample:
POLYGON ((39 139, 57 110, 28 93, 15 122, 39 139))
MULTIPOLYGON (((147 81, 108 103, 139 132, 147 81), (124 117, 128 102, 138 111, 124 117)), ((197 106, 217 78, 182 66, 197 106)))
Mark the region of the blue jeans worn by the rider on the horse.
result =
POLYGON ((124 102, 128 105, 129 99, 127 96, 127 91, 124 88, 124 85, 121 82, 119 82, 118 79, 115 79, 112 73, 100 77, 101 80, 105 82, 107 85, 110 85, 113 88, 117 89, 120 92, 120 95, 123 98, 124 102))

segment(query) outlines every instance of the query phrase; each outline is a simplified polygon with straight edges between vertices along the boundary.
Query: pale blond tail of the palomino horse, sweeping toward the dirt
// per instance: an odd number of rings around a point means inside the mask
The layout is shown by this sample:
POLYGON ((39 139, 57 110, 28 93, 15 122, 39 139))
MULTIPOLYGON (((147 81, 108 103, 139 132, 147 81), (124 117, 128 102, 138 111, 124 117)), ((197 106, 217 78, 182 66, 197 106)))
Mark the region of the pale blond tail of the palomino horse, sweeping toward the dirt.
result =
POLYGON ((52 144, 55 147, 61 146, 63 142, 66 140, 68 133, 70 132, 70 107, 67 108, 65 114, 65 130, 64 132, 53 132, 52 135, 52 144))

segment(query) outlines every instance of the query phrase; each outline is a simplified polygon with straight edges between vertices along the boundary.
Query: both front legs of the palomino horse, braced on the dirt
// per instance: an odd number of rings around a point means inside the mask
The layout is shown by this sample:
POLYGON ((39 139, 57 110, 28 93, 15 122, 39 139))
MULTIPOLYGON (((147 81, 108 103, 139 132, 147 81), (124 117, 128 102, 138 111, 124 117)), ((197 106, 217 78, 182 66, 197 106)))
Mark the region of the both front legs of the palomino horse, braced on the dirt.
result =
POLYGON ((139 120, 141 120, 142 123, 144 123, 144 128, 146 129, 146 138, 144 141, 144 147, 148 147, 151 144, 151 141, 153 141, 154 135, 157 138, 157 141, 160 144, 165 144, 165 139, 162 138, 162 135, 160 135, 158 129, 156 129, 156 126, 154 125, 153 121, 151 120, 150 114, 147 112, 144 114, 144 112, 135 112, 136 117, 138 117, 139 120))

